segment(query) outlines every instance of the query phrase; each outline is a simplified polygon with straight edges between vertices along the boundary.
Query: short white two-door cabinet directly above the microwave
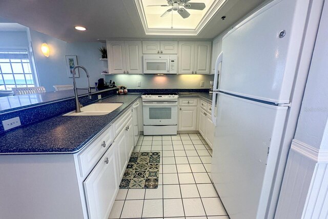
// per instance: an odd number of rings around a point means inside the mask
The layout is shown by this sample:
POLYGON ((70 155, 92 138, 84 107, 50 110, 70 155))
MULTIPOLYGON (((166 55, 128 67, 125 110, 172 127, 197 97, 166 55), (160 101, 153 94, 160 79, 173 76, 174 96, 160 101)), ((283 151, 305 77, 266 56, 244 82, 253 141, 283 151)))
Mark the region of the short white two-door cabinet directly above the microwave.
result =
POLYGON ((177 54, 177 41, 142 41, 143 54, 177 54))

